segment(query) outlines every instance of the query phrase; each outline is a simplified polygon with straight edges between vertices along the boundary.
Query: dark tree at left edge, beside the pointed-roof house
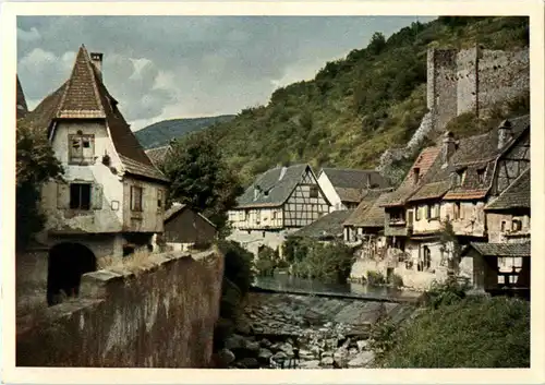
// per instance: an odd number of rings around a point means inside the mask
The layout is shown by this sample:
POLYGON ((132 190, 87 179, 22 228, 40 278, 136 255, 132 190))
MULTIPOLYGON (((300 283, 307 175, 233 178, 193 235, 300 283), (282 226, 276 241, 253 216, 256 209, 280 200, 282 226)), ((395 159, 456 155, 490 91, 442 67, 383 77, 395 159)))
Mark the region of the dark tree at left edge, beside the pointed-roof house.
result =
POLYGON ((15 233, 17 249, 27 244, 46 222, 39 209, 40 189, 51 179, 63 173, 60 161, 46 134, 25 121, 16 129, 16 214, 15 233))

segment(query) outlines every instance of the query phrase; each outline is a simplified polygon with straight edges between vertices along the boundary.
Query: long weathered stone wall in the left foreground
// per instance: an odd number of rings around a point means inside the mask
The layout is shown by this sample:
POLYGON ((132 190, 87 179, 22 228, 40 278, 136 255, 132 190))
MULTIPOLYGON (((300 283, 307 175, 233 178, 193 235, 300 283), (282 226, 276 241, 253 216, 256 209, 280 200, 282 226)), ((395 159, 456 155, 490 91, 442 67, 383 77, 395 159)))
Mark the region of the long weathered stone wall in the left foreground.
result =
POLYGON ((16 365, 207 368, 223 257, 207 251, 150 261, 136 274, 86 274, 78 299, 17 318, 16 365))

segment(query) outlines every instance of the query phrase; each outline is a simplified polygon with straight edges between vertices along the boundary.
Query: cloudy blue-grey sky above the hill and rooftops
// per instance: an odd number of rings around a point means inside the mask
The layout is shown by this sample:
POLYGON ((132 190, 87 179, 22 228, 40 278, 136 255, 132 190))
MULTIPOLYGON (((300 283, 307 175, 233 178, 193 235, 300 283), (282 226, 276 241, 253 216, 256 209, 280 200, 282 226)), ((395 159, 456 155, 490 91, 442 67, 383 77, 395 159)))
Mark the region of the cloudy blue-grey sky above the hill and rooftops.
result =
POLYGON ((416 16, 19 16, 17 74, 33 109, 69 76, 82 44, 132 130, 238 113, 416 16))

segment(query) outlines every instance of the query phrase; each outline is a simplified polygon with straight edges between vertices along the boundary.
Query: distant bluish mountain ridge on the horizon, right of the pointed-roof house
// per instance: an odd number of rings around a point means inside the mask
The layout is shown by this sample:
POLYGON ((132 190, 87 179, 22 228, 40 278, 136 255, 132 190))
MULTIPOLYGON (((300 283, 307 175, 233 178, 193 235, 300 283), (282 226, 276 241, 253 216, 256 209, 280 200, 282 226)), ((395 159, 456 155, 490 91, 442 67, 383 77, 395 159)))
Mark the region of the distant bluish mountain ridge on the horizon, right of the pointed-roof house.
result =
POLYGON ((154 148, 167 145, 170 140, 180 137, 192 131, 205 129, 216 123, 232 120, 233 115, 221 115, 218 117, 170 119, 150 124, 134 134, 144 148, 154 148))

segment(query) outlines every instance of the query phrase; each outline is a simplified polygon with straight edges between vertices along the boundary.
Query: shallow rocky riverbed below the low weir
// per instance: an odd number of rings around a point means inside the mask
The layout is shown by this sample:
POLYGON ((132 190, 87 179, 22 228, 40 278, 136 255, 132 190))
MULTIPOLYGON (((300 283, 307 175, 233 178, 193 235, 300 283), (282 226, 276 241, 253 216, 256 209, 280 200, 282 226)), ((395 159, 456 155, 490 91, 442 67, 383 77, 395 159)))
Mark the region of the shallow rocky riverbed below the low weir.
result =
POLYGON ((252 292, 219 357, 233 369, 371 368, 372 325, 413 313, 409 304, 252 292))

